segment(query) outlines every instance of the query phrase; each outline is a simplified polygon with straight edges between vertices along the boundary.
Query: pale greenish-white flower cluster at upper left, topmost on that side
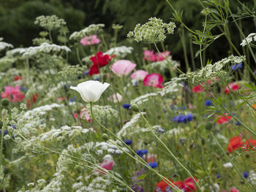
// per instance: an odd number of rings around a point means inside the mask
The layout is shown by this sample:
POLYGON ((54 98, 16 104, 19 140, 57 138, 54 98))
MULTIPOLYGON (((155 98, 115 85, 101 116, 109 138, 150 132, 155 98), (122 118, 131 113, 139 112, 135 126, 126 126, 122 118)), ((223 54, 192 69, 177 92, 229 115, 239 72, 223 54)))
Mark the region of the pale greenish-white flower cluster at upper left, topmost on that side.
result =
POLYGON ((62 26, 65 26, 66 22, 64 21, 64 19, 60 19, 56 15, 41 15, 36 18, 34 24, 38 24, 42 28, 45 28, 48 31, 52 31, 57 28, 61 28, 62 26))

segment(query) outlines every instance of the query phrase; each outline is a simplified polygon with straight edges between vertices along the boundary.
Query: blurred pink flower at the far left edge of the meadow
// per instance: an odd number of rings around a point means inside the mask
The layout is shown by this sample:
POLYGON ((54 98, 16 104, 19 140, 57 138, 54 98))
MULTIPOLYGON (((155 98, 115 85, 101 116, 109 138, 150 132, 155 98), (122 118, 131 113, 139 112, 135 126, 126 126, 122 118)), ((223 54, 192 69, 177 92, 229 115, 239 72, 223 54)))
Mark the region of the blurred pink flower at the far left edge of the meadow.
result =
POLYGON ((19 85, 16 87, 5 86, 4 92, 1 93, 1 98, 9 99, 11 102, 19 102, 25 98, 25 95, 20 92, 19 85))

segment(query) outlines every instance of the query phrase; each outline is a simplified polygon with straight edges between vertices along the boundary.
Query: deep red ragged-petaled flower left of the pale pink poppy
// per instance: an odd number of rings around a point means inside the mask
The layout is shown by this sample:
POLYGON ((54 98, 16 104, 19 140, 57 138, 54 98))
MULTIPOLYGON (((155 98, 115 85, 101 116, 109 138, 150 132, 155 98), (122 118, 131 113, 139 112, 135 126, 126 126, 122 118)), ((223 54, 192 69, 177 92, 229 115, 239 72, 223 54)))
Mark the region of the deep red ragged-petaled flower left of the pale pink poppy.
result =
POLYGON ((111 56, 109 56, 108 54, 103 55, 102 51, 99 51, 98 53, 96 53, 95 56, 90 58, 90 60, 94 64, 91 66, 89 74, 90 75, 99 74, 99 68, 102 66, 108 65, 108 62, 113 57, 116 57, 116 55, 111 55, 111 56))

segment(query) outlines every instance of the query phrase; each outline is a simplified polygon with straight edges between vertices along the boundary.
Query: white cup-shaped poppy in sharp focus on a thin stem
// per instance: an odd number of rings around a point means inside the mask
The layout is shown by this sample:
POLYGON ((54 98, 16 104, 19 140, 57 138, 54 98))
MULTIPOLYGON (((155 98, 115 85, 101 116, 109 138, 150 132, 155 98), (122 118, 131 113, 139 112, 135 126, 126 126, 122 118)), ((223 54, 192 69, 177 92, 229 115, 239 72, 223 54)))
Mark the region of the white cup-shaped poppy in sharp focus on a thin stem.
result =
POLYGON ((89 80, 79 83, 76 87, 71 86, 70 88, 78 91, 83 101, 96 102, 109 85, 108 82, 102 83, 95 80, 89 80))

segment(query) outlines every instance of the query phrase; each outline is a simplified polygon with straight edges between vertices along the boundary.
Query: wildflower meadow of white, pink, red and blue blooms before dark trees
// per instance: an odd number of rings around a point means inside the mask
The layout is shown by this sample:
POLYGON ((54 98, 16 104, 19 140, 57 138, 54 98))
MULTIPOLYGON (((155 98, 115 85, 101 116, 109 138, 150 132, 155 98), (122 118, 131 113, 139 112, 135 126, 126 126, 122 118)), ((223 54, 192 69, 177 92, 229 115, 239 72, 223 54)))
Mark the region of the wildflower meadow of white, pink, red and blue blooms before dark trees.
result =
POLYGON ((256 2, 197 3, 199 28, 162 0, 168 20, 131 31, 0 33, 0 191, 256 191, 256 2))

